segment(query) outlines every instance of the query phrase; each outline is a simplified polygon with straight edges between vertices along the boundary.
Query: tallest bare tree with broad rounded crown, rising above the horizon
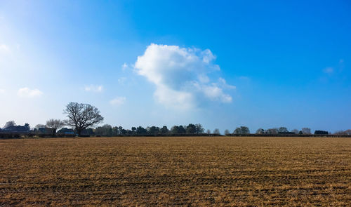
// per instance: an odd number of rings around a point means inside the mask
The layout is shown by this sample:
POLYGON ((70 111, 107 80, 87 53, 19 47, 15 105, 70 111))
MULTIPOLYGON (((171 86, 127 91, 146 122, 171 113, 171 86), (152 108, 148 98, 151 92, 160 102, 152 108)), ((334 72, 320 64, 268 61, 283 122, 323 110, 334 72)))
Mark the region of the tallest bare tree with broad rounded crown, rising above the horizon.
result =
POLYGON ((65 125, 73 126, 79 136, 85 128, 94 126, 104 120, 98 108, 77 102, 69 102, 66 109, 63 110, 63 114, 67 114, 68 118, 65 120, 65 125))

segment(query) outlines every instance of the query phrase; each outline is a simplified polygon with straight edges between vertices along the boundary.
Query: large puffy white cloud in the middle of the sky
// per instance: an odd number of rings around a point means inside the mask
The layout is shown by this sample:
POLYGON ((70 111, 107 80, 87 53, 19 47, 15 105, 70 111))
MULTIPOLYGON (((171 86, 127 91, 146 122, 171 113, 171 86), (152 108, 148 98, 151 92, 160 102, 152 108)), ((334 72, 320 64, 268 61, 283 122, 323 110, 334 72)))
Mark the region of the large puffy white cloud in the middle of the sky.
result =
POLYGON ((138 74, 157 86, 155 98, 166 106, 190 108, 204 98, 232 102, 224 90, 234 88, 225 79, 211 82, 211 76, 220 70, 213 64, 216 56, 206 49, 180 48, 151 44, 135 62, 138 74))

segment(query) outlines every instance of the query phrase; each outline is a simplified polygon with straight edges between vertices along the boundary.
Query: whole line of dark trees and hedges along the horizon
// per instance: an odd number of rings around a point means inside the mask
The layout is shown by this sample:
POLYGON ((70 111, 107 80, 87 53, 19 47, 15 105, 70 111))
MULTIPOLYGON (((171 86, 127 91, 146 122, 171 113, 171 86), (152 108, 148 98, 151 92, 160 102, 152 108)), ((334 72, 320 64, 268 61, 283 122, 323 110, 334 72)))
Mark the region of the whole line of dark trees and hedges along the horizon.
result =
MULTIPOLYGON (((173 126, 170 129, 167 126, 157 127, 151 126, 143 128, 143 126, 132 127, 131 129, 125 129, 121 126, 111 126, 110 124, 105 124, 103 126, 94 126, 98 125, 103 121, 103 117, 100 115, 98 108, 77 102, 69 102, 66 108, 63 110, 63 114, 67 116, 66 120, 61 121, 60 119, 49 119, 46 121, 46 124, 37 124, 32 131, 41 131, 43 133, 52 133, 52 135, 58 134, 77 134, 81 135, 97 135, 97 136, 117 136, 117 135, 201 135, 205 133, 204 128, 201 126, 201 123, 193 124, 189 123, 187 126, 173 126), (68 126, 70 128, 64 128, 68 126), (48 130, 49 129, 49 130, 48 130), (58 131, 60 129, 60 131, 58 131)), ((0 132, 6 131, 17 131, 25 132, 30 131, 30 126, 28 123, 25 123, 24 126, 17 126, 15 121, 8 121, 4 128, 0 128, 0 132)), ((210 130, 206 131, 207 134, 216 134, 220 135, 220 131, 216 128, 213 132, 210 130)), ((235 128, 232 133, 229 130, 225 130, 225 135, 249 135, 251 134, 247 126, 240 126, 235 128)), ((293 129, 288 131, 286 127, 279 128, 258 128, 256 134, 267 134, 267 135, 278 135, 278 134, 298 134, 298 135, 310 135, 310 128, 302 128, 301 130, 293 129)), ((328 131, 314 131, 314 135, 329 135, 331 134, 328 131)), ((347 131, 338 131, 334 135, 351 135, 351 130, 347 131)))

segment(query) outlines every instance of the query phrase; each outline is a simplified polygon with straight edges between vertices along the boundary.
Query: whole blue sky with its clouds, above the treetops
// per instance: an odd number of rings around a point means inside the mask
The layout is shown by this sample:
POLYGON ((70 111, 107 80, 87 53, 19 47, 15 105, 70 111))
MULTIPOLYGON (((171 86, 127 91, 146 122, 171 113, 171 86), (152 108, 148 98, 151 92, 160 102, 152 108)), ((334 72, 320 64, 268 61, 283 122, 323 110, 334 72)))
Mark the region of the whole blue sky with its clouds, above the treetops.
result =
POLYGON ((351 128, 350 1, 1 1, 0 126, 351 128))

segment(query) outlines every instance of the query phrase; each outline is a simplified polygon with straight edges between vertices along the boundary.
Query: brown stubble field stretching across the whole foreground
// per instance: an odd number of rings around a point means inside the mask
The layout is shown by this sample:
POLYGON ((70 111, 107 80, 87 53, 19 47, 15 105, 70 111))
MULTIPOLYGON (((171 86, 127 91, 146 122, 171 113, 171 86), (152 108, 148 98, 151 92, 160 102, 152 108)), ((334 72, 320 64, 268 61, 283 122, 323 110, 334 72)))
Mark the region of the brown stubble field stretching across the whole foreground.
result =
POLYGON ((0 140, 0 206, 350 206, 351 138, 0 140))

